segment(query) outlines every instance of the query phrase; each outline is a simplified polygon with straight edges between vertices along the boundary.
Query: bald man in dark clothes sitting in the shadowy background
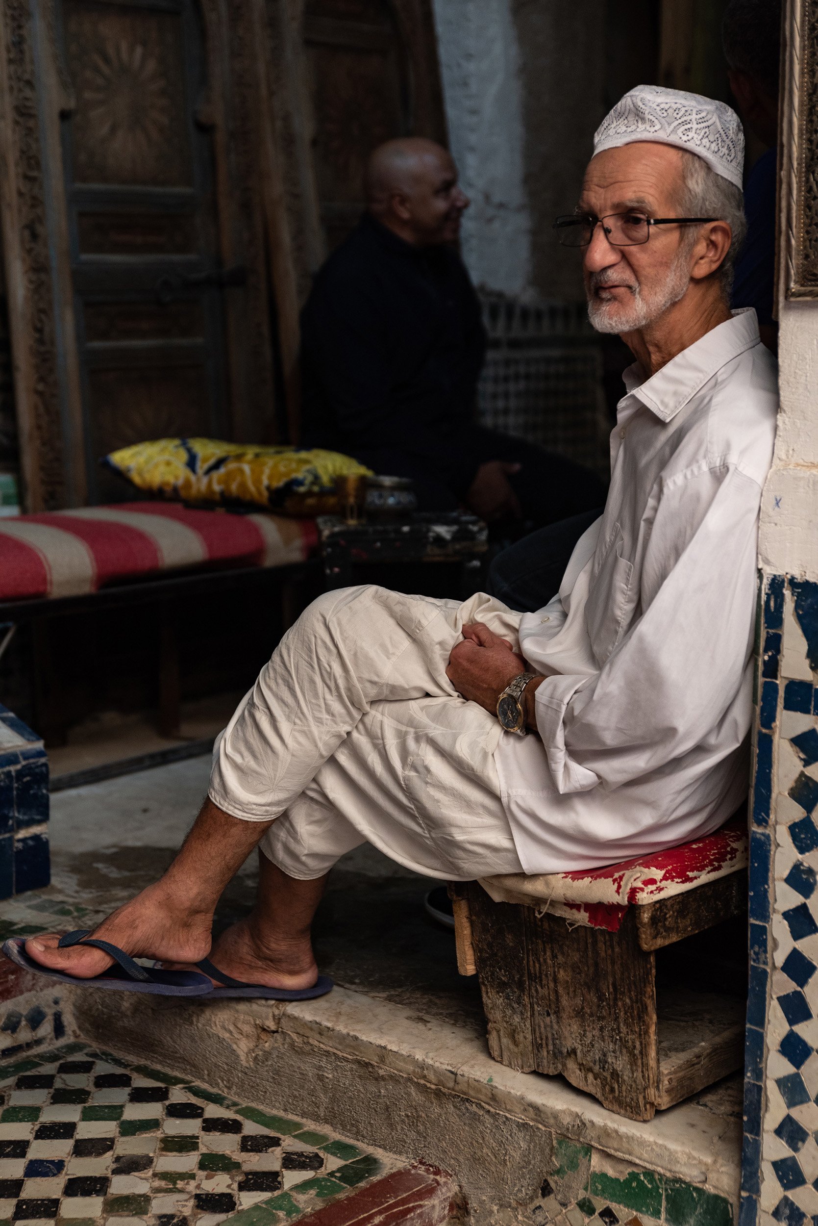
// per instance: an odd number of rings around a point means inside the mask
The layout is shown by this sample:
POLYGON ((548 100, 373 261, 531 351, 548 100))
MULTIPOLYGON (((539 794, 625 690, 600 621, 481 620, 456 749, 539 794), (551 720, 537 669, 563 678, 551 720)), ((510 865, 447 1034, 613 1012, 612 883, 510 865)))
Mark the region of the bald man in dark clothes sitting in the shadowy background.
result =
POLYGON ((381 145, 366 199, 301 316, 304 444, 414 478, 421 510, 467 506, 513 535, 601 506, 593 473, 475 422, 486 336, 456 246, 469 201, 449 153, 381 145))

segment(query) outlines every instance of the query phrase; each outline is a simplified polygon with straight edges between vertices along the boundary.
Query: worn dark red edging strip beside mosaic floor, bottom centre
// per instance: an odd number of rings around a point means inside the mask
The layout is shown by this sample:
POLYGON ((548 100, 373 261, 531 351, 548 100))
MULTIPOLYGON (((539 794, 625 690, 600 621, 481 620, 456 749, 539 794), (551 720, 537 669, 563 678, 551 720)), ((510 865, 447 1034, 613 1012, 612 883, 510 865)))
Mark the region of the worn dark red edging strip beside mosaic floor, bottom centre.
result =
POLYGON ((451 1175, 418 1162, 300 1217, 298 1226, 441 1226, 458 1203, 451 1175))

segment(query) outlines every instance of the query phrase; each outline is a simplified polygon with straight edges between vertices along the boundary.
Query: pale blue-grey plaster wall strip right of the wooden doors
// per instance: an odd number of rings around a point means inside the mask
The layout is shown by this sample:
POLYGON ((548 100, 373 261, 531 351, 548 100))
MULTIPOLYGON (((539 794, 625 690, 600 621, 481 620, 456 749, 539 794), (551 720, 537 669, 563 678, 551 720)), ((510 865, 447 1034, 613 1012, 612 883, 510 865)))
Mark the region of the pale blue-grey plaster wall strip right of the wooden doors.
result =
POLYGON ((509 0, 433 0, 452 153, 471 199, 462 250, 475 284, 531 283, 520 63, 509 0))

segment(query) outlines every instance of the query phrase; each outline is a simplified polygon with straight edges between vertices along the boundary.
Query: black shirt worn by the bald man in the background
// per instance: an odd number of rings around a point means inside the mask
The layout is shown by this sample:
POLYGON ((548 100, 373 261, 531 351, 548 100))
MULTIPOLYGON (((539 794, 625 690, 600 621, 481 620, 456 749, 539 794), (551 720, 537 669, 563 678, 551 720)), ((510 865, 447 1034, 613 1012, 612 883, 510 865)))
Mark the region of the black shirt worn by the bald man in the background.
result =
POLYGON ((486 337, 456 250, 405 243, 366 213, 321 268, 301 316, 302 441, 392 476, 433 473, 463 498, 486 337))

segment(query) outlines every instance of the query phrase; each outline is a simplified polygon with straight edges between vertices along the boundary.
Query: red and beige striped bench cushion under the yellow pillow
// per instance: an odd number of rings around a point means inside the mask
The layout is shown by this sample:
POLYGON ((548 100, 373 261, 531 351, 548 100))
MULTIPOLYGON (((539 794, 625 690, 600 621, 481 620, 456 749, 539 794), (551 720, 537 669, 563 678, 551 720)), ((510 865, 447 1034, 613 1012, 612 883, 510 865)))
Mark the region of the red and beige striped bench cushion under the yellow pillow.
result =
POLYGON ((84 596, 163 570, 304 562, 313 520, 196 511, 176 503, 116 503, 0 519, 0 600, 84 596))

